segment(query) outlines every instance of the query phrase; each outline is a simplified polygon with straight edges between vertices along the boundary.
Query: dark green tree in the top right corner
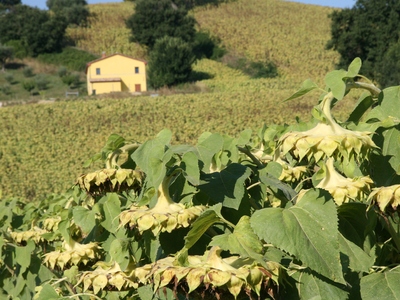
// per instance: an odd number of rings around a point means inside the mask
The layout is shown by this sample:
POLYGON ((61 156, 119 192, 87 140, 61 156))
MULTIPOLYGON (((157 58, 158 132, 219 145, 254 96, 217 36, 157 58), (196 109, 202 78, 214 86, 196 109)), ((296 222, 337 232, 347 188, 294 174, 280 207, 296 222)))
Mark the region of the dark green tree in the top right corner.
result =
MULTIPOLYGON (((375 80, 386 52, 400 37, 400 2, 397 0, 358 0, 354 7, 334 11, 328 49, 339 52, 343 68, 360 57, 363 74, 375 80)), ((399 73, 400 69, 392 69, 399 73)), ((380 82, 382 85, 383 82, 380 82)))

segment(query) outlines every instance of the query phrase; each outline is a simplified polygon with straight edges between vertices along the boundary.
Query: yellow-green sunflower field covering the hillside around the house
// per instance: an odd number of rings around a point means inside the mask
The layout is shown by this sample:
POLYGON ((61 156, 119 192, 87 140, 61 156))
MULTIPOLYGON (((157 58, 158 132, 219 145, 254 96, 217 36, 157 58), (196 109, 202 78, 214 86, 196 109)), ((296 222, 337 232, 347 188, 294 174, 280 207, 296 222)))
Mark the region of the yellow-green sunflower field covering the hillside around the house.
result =
MULTIPOLYGON (((91 5, 91 27, 70 29, 78 47, 95 54, 122 52, 139 58, 144 50, 128 42, 124 18, 131 3, 91 5)), ((95 99, 0 109, 0 190, 4 196, 34 199, 60 192, 85 172, 84 161, 98 152, 111 133, 144 141, 163 128, 175 140, 192 142, 209 130, 235 135, 263 123, 308 118, 318 94, 283 103, 311 78, 323 82, 338 55, 324 49, 332 9, 277 0, 238 0, 193 11, 199 28, 221 38, 229 55, 221 62, 201 60, 195 71, 200 94, 95 99), (226 66, 232 57, 272 60, 280 76, 250 79, 226 66)), ((337 115, 341 118, 348 105, 337 115)))

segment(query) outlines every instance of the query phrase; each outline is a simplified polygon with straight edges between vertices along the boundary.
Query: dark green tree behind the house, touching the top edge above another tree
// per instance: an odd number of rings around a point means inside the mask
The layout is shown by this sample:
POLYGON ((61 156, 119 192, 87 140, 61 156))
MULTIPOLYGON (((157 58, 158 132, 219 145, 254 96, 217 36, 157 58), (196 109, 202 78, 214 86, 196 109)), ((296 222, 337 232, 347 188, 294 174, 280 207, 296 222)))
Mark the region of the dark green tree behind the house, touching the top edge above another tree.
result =
POLYGON ((131 30, 130 41, 149 49, 164 36, 192 42, 195 23, 186 8, 178 7, 170 0, 138 0, 135 13, 126 20, 126 26, 131 30))

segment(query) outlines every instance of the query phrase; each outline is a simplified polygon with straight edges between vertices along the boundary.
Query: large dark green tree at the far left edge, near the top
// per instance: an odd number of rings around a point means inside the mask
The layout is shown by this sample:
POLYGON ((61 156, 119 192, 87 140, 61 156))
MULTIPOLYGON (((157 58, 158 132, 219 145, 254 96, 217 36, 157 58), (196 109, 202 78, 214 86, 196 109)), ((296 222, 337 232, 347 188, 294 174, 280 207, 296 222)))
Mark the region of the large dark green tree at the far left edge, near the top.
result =
POLYGON ((2 16, 0 42, 20 41, 31 56, 60 51, 67 23, 63 17, 26 5, 12 7, 2 16))

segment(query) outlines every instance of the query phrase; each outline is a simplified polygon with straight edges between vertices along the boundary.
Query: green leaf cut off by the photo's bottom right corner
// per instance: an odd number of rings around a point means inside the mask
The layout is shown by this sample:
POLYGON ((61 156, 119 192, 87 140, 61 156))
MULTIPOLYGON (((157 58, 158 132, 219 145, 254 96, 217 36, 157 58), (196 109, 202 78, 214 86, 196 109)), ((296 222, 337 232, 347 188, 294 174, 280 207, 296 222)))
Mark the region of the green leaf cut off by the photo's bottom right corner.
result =
POLYGON ((361 278, 361 297, 363 300, 399 300, 400 268, 383 273, 373 273, 361 278))

